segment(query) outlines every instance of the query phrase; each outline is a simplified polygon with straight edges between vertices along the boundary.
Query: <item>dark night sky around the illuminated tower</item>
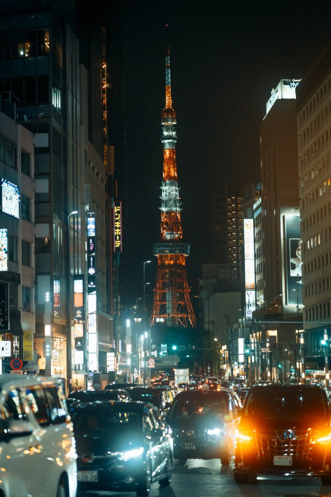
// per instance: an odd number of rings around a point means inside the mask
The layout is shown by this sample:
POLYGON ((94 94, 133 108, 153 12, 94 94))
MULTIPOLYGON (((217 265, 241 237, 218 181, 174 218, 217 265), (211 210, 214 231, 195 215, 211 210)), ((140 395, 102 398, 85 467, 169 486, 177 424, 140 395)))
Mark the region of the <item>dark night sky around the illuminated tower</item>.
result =
POLYGON ((189 285, 212 256, 211 197, 259 175, 259 126, 272 88, 303 78, 331 42, 328 2, 123 0, 129 295, 155 285, 165 105, 165 25, 177 114, 177 169, 189 285), (306 5, 306 6, 305 6, 306 5), (309 7, 308 7, 309 5, 309 7), (314 9, 314 10, 312 10, 314 9))

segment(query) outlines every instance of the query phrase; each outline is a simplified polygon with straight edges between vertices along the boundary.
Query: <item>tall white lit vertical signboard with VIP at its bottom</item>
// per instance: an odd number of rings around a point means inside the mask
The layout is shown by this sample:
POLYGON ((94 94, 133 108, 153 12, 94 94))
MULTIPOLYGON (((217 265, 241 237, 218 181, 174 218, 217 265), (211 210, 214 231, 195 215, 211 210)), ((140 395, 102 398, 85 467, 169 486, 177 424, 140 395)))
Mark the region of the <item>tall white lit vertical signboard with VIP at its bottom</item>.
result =
POLYGON ((252 313, 255 311, 255 254, 253 219, 244 219, 244 254, 246 319, 251 320, 252 313))

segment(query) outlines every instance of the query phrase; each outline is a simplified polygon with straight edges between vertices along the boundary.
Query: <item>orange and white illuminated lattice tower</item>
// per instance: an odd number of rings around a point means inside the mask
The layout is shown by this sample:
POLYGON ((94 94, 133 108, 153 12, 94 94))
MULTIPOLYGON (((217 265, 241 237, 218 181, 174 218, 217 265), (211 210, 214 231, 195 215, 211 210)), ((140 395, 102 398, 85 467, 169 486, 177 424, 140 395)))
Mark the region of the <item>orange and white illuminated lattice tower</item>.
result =
POLYGON ((181 201, 176 166, 176 113, 172 108, 170 50, 165 53, 166 105, 161 113, 163 143, 163 181, 161 186, 160 243, 153 244, 157 257, 156 285, 150 325, 163 322, 167 327, 196 326, 185 259, 190 245, 183 242, 181 201))

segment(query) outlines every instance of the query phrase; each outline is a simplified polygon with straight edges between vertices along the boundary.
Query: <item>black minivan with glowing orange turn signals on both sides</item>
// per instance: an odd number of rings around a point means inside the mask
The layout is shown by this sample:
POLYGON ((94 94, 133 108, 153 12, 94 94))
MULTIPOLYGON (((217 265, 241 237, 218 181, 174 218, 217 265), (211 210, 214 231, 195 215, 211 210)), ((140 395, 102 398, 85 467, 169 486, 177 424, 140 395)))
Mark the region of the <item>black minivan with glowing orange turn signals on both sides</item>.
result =
POLYGON ((251 387, 236 434, 237 483, 260 475, 320 476, 331 483, 330 404, 324 388, 306 384, 251 387))

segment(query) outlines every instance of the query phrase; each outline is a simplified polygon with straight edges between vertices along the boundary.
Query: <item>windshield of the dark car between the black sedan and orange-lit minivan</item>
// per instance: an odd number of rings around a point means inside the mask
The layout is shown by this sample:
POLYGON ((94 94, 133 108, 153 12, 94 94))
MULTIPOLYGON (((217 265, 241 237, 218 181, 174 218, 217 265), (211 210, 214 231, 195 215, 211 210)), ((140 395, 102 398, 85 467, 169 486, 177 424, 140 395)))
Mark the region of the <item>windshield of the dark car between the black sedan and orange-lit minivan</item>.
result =
POLYGON ((184 418, 185 416, 206 417, 210 415, 223 417, 225 414, 229 414, 228 402, 222 399, 215 401, 208 399, 175 400, 169 413, 169 419, 184 418))

